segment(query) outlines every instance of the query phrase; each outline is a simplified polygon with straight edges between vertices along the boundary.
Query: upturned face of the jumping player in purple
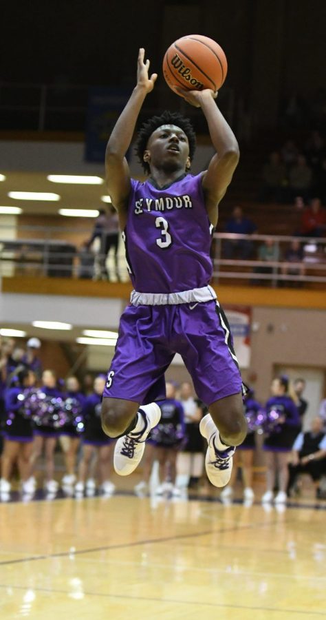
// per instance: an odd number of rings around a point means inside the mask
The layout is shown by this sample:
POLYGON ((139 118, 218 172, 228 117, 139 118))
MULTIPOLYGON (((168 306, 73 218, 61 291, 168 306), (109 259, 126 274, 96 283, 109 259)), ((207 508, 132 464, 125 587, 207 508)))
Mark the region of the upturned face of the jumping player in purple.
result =
POLYGON ((190 167, 186 134, 176 125, 161 125, 149 138, 144 161, 158 168, 185 170, 186 167, 190 167))

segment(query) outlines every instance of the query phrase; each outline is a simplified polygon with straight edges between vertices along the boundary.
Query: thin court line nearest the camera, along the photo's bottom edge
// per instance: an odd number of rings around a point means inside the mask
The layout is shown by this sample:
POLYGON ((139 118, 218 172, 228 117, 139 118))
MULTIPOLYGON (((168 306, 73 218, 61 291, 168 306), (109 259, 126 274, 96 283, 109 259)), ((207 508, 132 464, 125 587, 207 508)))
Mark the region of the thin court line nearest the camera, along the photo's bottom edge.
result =
MULTIPOLYGON (((12 588, 13 590, 26 590, 28 588, 26 588, 25 586, 3 586, 2 583, 0 583, 0 588, 12 588)), ((29 586, 30 588, 30 586, 29 586)), ((69 592, 69 590, 58 590, 58 589, 54 589, 54 588, 32 588, 32 590, 34 592, 53 592, 55 594, 71 594, 71 592, 69 592)), ((287 609, 287 608, 277 608, 277 607, 259 607, 259 606, 247 606, 247 605, 230 605, 230 604, 225 604, 225 603, 207 603, 204 601, 184 601, 184 600, 180 600, 180 599, 159 599, 157 597, 135 597, 135 596, 131 596, 131 595, 113 595, 113 594, 103 594, 102 592, 86 592, 85 590, 83 591, 83 595, 85 596, 91 596, 91 597, 102 597, 102 598, 107 598, 107 599, 127 599, 127 600, 131 600, 131 601, 151 601, 151 602, 157 602, 157 603, 178 603, 180 605, 198 605, 198 606, 206 606, 206 607, 217 607, 217 608, 224 608, 224 609, 246 609, 246 610, 254 610, 254 611, 270 611, 270 612, 276 612, 276 613, 290 613, 290 614, 311 614, 314 616, 323 616, 325 617, 325 613, 326 613, 326 609, 323 611, 307 611, 307 610, 300 610, 300 609, 287 609)))

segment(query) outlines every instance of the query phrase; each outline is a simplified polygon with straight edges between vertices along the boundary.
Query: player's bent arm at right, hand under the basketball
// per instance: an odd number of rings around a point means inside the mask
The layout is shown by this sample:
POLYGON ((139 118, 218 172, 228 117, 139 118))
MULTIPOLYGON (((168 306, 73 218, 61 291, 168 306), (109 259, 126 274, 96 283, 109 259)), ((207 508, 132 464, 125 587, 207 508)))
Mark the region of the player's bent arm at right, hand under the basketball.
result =
POLYGON ((213 90, 180 90, 184 99, 201 107, 206 117, 210 139, 215 148, 215 155, 210 160, 208 169, 203 175, 202 185, 206 197, 208 217, 213 225, 217 225, 218 205, 226 193, 233 173, 239 162, 239 145, 231 127, 215 103, 217 93, 213 90))

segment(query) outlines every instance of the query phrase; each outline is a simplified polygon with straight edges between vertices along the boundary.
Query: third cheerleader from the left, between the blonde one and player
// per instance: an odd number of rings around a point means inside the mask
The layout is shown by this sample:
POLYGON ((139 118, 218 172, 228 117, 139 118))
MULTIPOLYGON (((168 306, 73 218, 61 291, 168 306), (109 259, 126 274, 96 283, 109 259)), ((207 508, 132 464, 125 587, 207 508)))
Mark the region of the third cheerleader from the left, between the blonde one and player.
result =
MULTIPOLYGON (((71 398, 77 401, 80 406, 80 412, 83 411, 86 397, 80 391, 80 384, 76 377, 69 377, 66 381, 65 398, 71 398)), ((61 448, 65 457, 66 473, 61 480, 63 486, 71 486, 76 482, 75 468, 77 452, 80 446, 80 432, 76 426, 69 422, 63 426, 60 437, 61 448)))

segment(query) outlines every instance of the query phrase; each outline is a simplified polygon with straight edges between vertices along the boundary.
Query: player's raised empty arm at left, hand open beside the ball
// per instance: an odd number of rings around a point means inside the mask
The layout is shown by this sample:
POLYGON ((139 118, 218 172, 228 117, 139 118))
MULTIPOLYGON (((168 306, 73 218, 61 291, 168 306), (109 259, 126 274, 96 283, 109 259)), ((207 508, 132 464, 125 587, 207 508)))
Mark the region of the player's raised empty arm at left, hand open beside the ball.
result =
POLYGON ((131 188, 129 166, 125 154, 131 144, 135 124, 146 94, 153 90, 157 78, 155 73, 149 77, 149 60, 146 60, 146 63, 144 62, 144 54, 145 50, 140 48, 137 84, 113 127, 105 154, 107 190, 111 196, 112 204, 119 211, 119 214, 126 208, 131 188))

